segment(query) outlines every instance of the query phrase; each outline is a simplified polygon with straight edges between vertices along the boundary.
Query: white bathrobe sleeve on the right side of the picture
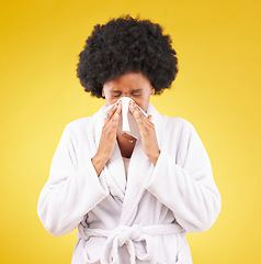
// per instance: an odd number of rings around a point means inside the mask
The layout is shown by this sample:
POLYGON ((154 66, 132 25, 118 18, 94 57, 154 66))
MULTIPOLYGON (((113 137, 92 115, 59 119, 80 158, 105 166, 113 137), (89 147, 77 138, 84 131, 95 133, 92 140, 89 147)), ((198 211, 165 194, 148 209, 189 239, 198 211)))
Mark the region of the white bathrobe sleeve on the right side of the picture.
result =
POLYGON ((179 147, 174 147, 174 155, 161 150, 146 189, 173 212, 188 232, 206 231, 219 215, 220 195, 205 147, 188 121, 179 147))

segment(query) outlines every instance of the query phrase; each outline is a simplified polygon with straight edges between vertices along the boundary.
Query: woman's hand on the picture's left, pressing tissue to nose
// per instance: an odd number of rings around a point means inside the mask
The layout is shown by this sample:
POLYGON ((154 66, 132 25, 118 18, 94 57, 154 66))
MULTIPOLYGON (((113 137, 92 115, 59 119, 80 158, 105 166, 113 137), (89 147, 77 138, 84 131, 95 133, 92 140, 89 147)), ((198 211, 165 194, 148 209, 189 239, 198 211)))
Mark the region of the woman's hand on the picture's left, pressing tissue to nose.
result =
POLYGON ((101 174, 103 167, 112 156, 116 142, 116 132, 121 111, 122 102, 120 101, 112 108, 109 116, 104 119, 99 147, 97 154, 91 160, 98 176, 101 174))

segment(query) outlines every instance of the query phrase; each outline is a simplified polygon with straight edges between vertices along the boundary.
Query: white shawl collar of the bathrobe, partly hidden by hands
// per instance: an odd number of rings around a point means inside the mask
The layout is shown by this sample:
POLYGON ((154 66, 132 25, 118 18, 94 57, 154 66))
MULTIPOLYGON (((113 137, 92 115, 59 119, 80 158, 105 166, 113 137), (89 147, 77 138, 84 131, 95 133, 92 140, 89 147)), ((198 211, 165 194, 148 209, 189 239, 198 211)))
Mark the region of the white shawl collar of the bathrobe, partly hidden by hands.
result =
MULTIPOLYGON (((93 116, 94 141, 98 150, 99 142, 104 124, 106 113, 104 110, 107 105, 104 105, 93 116)), ((152 116, 151 122, 155 124, 157 141, 159 148, 162 139, 161 116, 149 103, 147 113, 152 116)), ((102 170, 100 177, 104 177, 113 197, 116 197, 122 202, 122 216, 120 224, 130 226, 138 209, 138 204, 145 193, 145 185, 152 174, 154 165, 144 153, 141 139, 138 138, 129 161, 127 183, 125 179, 124 163, 117 142, 111 158, 102 170), (126 189, 125 189, 126 188, 126 189)))

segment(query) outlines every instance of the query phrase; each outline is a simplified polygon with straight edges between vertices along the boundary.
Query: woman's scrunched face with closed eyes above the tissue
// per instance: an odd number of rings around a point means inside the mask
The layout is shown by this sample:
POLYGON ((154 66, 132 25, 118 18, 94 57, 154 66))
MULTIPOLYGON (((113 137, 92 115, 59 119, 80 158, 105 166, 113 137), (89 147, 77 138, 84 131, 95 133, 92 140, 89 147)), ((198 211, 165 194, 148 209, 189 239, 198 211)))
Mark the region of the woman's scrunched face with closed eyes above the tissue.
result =
POLYGON ((154 88, 141 73, 127 73, 103 85, 103 96, 107 105, 113 105, 122 97, 132 98, 144 111, 147 111, 154 88))

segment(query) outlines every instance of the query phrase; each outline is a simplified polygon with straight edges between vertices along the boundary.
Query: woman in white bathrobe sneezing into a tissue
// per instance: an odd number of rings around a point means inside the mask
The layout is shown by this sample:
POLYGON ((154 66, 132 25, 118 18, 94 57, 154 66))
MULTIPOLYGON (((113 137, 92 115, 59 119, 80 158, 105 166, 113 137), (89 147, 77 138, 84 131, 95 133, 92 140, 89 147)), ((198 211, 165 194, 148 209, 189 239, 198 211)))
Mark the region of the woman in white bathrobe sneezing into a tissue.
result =
POLYGON ((177 62, 150 21, 111 20, 88 37, 78 77, 106 105, 66 127, 37 208, 54 235, 78 227, 73 264, 190 264, 185 234, 215 222, 220 196, 195 129, 149 102, 170 87, 177 62), (126 98, 136 136, 120 132, 126 98))

